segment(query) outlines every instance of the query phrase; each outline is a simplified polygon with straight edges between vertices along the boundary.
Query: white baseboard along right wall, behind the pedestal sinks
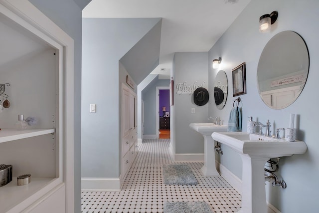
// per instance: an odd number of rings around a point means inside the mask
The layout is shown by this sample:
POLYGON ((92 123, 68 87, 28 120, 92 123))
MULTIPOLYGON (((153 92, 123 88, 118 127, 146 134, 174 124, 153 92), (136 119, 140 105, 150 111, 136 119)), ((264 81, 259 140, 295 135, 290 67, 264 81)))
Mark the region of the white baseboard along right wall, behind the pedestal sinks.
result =
MULTIPOLYGON (((242 192, 242 180, 230 172, 226 167, 216 161, 216 167, 220 175, 238 192, 242 192)), ((281 213, 267 201, 267 213, 281 213)))

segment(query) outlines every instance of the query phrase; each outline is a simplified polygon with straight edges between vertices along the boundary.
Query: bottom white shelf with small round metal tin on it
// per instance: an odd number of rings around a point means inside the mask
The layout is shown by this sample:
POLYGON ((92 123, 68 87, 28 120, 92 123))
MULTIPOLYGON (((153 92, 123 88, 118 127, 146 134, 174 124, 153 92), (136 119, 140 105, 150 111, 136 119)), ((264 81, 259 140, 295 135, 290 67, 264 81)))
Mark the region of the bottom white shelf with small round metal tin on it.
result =
POLYGON ((58 178, 35 178, 31 176, 29 184, 17 186, 16 177, 7 185, 0 187, 0 213, 20 212, 24 209, 25 203, 32 203, 52 190, 57 183, 58 178), (30 200, 28 202, 28 200, 30 200))

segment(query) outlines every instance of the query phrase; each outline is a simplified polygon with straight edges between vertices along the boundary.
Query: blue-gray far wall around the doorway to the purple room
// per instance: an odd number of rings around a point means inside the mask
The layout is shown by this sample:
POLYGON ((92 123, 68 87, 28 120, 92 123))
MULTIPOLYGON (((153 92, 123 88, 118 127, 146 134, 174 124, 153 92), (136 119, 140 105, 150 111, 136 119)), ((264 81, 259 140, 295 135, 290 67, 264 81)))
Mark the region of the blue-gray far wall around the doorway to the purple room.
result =
POLYGON ((144 100, 144 134, 156 135, 156 87, 169 86, 169 80, 159 80, 156 78, 143 91, 144 100))

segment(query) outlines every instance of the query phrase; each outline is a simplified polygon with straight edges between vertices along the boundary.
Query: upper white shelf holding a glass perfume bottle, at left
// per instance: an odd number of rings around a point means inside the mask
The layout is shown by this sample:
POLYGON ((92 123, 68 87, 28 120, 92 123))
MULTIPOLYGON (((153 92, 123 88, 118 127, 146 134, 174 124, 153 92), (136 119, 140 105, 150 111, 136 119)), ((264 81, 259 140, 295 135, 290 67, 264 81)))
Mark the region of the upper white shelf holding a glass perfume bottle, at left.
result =
POLYGON ((1 129, 0 143, 54 133, 55 129, 1 129))

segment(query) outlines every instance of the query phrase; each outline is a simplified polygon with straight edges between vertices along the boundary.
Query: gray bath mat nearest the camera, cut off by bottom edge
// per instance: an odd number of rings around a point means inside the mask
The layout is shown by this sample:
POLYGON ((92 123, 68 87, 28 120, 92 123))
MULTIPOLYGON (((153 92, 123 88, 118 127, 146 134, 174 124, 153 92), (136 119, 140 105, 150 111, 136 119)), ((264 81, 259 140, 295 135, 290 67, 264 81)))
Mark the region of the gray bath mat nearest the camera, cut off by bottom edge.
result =
POLYGON ((205 202, 165 202, 164 213, 213 213, 205 202))

